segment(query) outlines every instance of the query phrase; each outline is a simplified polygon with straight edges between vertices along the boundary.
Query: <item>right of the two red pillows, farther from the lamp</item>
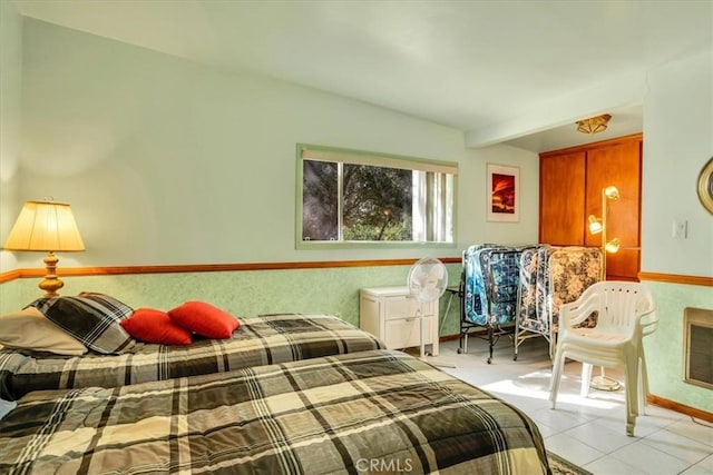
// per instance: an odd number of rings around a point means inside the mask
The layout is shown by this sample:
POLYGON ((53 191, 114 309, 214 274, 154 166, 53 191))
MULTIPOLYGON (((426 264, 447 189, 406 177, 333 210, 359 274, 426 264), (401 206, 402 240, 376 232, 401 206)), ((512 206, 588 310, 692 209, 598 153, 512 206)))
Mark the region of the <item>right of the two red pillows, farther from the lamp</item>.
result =
POLYGON ((205 301, 186 301, 168 310, 170 319, 206 338, 229 338, 241 323, 231 314, 205 301))

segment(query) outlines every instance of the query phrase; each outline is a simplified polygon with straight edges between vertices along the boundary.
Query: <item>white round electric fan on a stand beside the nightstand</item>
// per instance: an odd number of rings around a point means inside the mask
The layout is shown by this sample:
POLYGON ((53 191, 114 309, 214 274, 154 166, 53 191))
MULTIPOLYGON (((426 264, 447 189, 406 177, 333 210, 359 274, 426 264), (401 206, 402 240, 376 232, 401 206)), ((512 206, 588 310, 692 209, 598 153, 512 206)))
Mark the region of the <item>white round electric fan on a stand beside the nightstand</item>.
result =
MULTIPOLYGON (((446 287, 448 287, 448 269, 446 269, 446 266, 440 260, 426 257, 411 266, 407 284, 409 286, 409 293, 414 296, 419 303, 419 343, 421 346, 421 358, 423 358, 426 350, 423 345, 422 306, 423 304, 437 301, 441 298, 441 295, 446 291, 446 287)), ((433 338, 438 338, 438 335, 433 335, 433 338)))

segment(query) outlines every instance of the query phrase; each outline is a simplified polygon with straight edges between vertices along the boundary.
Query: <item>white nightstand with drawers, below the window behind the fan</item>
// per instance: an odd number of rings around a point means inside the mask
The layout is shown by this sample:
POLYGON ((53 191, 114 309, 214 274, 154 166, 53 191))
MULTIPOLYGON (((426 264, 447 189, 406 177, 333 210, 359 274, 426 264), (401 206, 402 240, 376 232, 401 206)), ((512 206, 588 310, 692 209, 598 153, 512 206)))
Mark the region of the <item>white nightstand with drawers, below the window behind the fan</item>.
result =
MULTIPOLYGON (((438 356, 438 300, 421 304, 423 344, 438 356)), ((419 301, 407 286, 362 288, 359 326, 389 349, 420 346, 419 301)))

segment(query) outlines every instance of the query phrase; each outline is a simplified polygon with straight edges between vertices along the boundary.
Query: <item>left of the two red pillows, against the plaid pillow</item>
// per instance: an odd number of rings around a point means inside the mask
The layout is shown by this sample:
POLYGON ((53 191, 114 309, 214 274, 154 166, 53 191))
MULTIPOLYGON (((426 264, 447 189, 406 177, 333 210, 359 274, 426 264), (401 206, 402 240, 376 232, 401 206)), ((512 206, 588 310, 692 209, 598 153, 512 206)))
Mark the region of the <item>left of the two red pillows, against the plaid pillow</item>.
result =
POLYGON ((153 308, 138 308, 119 323, 134 338, 162 345, 191 345, 191 331, 175 324, 167 313, 153 308))

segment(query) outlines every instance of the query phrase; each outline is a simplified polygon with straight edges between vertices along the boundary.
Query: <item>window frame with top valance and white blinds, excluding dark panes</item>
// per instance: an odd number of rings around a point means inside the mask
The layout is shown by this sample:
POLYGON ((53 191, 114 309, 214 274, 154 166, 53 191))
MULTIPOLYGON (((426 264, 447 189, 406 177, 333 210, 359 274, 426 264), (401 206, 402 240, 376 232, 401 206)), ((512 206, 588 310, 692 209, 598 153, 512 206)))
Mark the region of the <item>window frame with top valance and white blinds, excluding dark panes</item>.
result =
MULTIPOLYGON (((341 174, 340 174, 341 175, 341 174)), ((324 248, 360 248, 360 247, 433 247, 455 248, 456 247, 456 196, 458 185, 458 164, 450 161, 429 160, 422 158, 404 157, 397 155, 379 154, 362 150, 350 150, 318 145, 297 144, 296 146, 296 214, 295 214, 295 245, 297 249, 324 249, 324 248), (413 180, 413 212, 412 231, 413 240, 343 240, 342 239, 342 217, 339 214, 339 240, 303 240, 302 239, 302 205, 303 205, 303 159, 324 160, 340 164, 370 165, 377 167, 392 167, 399 169, 410 169, 414 171, 436 172, 440 179, 433 179, 428 185, 427 174, 418 174, 418 179, 413 180), (438 175, 440 174, 440 175, 438 175), (420 184, 417 180, 421 181, 420 184), (421 194, 420 190, 423 190, 421 194), (427 194, 431 200, 427 199, 427 194), (420 196, 418 196, 420 195, 420 196), (427 202, 433 202, 436 196, 450 201, 450 207, 446 206, 446 211, 440 209, 427 210, 427 202), (431 212, 431 222, 439 222, 440 226, 428 229, 427 212, 431 212), (428 240, 428 239, 448 240, 428 240)), ((339 182, 339 198, 342 199, 342 182, 339 182)), ((438 207, 437 207, 438 208, 438 207)))

